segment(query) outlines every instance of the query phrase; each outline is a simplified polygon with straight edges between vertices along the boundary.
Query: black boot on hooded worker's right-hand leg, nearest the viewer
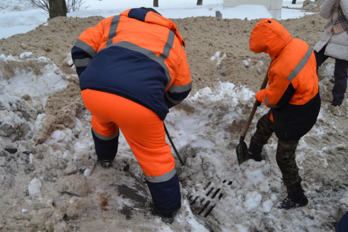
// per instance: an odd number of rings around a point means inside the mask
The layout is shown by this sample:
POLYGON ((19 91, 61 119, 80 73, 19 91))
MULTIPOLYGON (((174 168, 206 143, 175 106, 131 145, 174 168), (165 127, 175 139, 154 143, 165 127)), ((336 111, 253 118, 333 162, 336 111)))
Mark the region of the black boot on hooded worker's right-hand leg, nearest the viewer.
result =
POLYGON ((308 205, 308 199, 304 195, 301 184, 295 187, 286 186, 286 191, 287 197, 283 201, 277 203, 277 208, 289 210, 308 205))

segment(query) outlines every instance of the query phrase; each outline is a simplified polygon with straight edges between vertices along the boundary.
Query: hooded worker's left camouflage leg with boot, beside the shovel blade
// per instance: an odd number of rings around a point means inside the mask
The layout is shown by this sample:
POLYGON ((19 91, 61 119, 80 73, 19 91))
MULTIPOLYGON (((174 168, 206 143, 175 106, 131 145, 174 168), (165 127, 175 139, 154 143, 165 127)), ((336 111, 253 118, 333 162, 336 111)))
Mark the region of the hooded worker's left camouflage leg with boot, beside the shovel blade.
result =
POLYGON ((250 139, 249 156, 256 161, 262 160, 261 153, 263 145, 267 144, 269 138, 274 132, 272 121, 269 119, 269 115, 270 113, 268 112, 259 119, 256 125, 256 131, 250 139))

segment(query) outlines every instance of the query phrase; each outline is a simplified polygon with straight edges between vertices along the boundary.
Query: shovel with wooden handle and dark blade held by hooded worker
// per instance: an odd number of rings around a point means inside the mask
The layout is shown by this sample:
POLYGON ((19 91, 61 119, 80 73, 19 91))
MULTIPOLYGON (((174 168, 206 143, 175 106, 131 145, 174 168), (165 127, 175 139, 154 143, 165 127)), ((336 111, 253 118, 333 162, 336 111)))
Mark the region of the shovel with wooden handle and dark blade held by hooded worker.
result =
MULTIPOLYGON (((267 85, 268 82, 268 71, 269 71, 269 67, 267 70, 266 75, 264 76, 262 85, 261 85, 261 89, 264 89, 267 85)), ((247 161, 250 157, 249 157, 249 151, 248 151, 248 146, 247 144, 244 142, 245 136, 247 135, 247 132, 249 130, 250 124, 252 123, 252 120, 254 118, 256 109, 260 106, 261 102, 258 100, 255 100, 252 112, 249 115, 247 124, 245 125, 243 132, 241 134, 241 137, 239 139, 239 144, 237 145, 236 148, 236 153, 237 153, 237 158, 238 158, 238 164, 241 165, 243 162, 247 161)))

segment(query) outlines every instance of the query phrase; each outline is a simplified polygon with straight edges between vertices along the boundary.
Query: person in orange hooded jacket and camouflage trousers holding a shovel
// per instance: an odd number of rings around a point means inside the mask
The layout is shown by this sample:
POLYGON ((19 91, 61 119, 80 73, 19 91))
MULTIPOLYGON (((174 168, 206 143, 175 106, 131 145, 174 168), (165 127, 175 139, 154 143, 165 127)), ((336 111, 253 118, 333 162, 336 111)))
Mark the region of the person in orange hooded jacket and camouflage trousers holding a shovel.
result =
POLYGON ((267 18, 254 26, 249 46, 251 51, 264 52, 272 59, 268 87, 255 95, 270 110, 257 123, 250 140, 250 157, 262 160, 262 147, 274 132, 278 138, 275 157, 287 190, 287 197, 277 207, 305 206, 308 199, 301 187, 295 149, 300 138, 316 123, 320 111, 314 53, 306 42, 291 38, 279 22, 267 18))

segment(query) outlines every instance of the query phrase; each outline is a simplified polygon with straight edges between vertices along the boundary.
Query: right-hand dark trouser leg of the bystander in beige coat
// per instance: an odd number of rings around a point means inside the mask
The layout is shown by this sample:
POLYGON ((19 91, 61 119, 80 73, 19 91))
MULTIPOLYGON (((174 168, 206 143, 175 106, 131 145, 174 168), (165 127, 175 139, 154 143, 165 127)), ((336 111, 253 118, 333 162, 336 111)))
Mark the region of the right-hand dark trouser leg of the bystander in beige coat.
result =
POLYGON ((341 105, 345 98, 348 80, 347 69, 348 61, 335 59, 335 83, 332 89, 332 95, 334 97, 332 104, 334 106, 341 105))

